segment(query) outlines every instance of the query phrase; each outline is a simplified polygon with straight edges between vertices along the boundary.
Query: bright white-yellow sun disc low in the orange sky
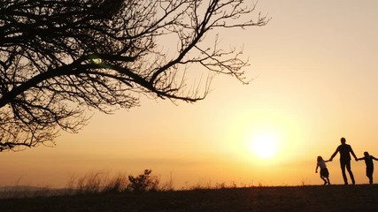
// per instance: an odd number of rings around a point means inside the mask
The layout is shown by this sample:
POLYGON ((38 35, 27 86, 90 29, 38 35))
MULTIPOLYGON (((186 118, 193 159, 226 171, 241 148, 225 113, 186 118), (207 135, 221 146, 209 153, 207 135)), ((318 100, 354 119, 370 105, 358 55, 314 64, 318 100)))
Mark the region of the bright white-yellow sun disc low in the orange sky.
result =
POLYGON ((260 159, 270 159, 277 154, 278 143, 273 133, 258 133, 251 137, 251 151, 260 159))

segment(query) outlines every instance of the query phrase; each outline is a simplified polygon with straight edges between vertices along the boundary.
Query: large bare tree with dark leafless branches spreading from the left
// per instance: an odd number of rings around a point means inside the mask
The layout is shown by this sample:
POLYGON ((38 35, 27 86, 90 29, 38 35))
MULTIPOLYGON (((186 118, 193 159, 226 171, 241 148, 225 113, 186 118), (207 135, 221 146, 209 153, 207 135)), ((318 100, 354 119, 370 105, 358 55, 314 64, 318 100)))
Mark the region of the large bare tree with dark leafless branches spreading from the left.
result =
POLYGON ((139 105, 140 95, 196 102, 209 78, 244 81, 240 52, 209 32, 265 26, 243 0, 9 0, 0 3, 0 151, 53 144, 85 112, 139 105), (247 19, 247 20, 245 20, 247 19), (245 20, 245 21, 243 21, 245 20), (167 43, 169 41, 169 43, 167 43), (167 46, 170 46, 168 48, 167 46))

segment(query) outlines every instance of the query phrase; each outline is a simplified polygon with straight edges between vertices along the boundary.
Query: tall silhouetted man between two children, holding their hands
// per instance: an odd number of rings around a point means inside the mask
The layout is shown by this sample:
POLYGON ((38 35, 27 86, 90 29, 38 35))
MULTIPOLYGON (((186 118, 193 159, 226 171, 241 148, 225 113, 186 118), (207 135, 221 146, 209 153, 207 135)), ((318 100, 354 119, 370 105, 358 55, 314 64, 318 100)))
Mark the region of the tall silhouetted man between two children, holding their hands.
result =
POLYGON ((351 155, 353 155, 354 159, 357 159, 357 156, 354 154, 353 149, 351 149, 351 145, 345 143, 345 138, 341 138, 341 145, 336 148, 336 151, 331 157, 329 161, 340 153, 340 166, 343 173, 343 182, 345 185, 348 185, 348 179, 346 178, 345 168, 348 170, 349 175, 351 176, 351 183, 354 185, 356 182, 354 181, 353 172, 351 172, 351 155))

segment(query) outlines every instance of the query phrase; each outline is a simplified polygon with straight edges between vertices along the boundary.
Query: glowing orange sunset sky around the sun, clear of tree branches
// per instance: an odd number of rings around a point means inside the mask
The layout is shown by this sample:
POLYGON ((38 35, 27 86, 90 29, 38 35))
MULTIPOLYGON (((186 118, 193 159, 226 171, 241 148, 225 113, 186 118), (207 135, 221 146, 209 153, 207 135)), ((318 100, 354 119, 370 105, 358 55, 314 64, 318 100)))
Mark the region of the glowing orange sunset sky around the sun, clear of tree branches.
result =
MULTIPOLYGON (((96 113, 54 148, 0 153, 0 186, 61 187, 91 171, 145 169, 177 188, 320 185, 316 157, 328 159, 341 137, 359 157, 378 157, 377 8, 375 0, 260 0, 268 25, 220 32, 222 45, 243 46, 250 58, 249 85, 217 75, 201 102, 142 96, 140 107, 96 113)), ((327 163, 333 184, 343 184, 338 158, 327 163)), ((351 166, 366 184, 365 163, 351 166)))

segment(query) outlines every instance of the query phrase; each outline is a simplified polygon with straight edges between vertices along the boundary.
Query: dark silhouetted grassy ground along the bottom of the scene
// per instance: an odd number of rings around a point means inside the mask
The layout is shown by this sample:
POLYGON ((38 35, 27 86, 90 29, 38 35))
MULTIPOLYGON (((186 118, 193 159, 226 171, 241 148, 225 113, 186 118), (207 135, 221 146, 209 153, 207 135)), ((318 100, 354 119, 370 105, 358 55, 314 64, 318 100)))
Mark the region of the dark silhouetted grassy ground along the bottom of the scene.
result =
POLYGON ((0 200, 0 211, 378 211, 378 185, 257 186, 0 200))

